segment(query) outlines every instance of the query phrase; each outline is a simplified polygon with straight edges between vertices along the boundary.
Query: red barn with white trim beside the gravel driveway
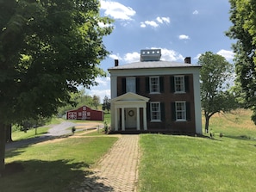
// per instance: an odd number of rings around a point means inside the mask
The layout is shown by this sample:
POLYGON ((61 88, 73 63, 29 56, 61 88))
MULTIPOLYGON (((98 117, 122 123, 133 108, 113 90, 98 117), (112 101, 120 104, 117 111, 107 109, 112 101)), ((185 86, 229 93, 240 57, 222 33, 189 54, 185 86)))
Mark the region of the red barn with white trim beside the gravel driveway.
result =
POLYGON ((101 110, 95 110, 83 106, 78 109, 70 110, 66 112, 67 120, 92 120, 92 121, 103 121, 104 114, 101 110))

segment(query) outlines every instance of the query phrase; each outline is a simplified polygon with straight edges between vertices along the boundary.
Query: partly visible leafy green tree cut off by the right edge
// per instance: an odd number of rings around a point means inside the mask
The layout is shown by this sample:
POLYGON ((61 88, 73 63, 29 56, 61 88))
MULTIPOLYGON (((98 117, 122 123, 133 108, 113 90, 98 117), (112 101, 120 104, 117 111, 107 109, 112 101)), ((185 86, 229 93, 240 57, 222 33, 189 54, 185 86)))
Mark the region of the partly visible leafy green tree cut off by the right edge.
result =
POLYGON ((237 40, 234 45, 235 86, 240 90, 240 101, 245 108, 253 109, 256 124, 256 1, 229 0, 230 21, 233 25, 226 35, 237 40))

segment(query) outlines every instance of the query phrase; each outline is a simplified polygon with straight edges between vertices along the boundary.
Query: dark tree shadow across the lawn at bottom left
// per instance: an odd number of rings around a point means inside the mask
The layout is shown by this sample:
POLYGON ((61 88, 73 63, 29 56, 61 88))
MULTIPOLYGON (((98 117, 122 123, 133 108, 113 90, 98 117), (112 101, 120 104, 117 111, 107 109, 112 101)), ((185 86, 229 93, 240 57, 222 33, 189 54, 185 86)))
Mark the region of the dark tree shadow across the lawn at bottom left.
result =
POLYGON ((0 177, 0 191, 113 191, 92 174, 89 164, 72 160, 13 162, 0 177))

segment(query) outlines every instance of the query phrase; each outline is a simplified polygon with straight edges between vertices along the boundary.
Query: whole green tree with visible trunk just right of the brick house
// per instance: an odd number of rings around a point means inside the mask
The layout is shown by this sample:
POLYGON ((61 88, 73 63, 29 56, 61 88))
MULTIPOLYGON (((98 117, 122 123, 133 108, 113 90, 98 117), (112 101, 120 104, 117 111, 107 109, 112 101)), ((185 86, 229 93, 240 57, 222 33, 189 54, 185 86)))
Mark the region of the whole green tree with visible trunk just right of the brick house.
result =
POLYGON ((228 112, 235 108, 234 95, 228 91, 228 80, 233 66, 221 55, 206 52, 198 59, 202 65, 201 101, 205 117, 205 132, 209 132, 209 119, 215 113, 228 112))

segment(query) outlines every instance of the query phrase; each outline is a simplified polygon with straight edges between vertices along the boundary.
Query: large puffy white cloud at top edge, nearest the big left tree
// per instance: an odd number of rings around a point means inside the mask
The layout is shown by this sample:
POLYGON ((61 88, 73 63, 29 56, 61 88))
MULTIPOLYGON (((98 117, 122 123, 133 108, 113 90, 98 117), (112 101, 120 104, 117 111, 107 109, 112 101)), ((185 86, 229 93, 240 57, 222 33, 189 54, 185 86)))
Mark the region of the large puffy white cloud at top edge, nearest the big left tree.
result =
POLYGON ((107 0, 101 0, 100 3, 101 9, 105 10, 104 15, 112 16, 114 19, 132 20, 132 16, 136 14, 134 9, 122 3, 107 0))

